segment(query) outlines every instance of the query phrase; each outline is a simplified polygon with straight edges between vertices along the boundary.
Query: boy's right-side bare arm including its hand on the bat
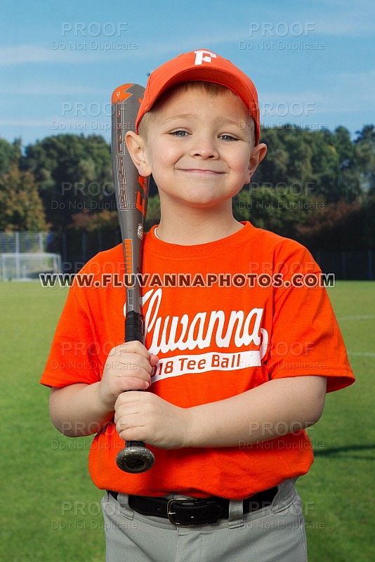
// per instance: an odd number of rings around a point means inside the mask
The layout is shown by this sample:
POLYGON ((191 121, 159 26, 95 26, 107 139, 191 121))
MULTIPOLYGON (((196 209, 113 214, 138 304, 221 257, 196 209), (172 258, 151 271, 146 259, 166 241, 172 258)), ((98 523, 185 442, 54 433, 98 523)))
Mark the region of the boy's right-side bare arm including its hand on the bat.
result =
POLYGON ((232 398, 180 408, 152 393, 121 394, 117 431, 164 449, 238 447, 301 431, 320 419, 326 377, 273 379, 232 398))

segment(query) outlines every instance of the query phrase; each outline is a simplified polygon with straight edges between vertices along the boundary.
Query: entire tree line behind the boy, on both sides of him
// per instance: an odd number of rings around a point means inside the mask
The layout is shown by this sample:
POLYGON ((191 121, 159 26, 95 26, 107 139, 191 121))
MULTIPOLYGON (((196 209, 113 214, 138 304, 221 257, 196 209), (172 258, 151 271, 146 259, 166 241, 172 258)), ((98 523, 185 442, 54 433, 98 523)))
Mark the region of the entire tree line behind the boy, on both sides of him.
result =
MULTIPOLYGON (((375 248, 375 128, 264 129, 268 154, 233 200, 238 220, 309 249, 375 248)), ((159 219, 151 181, 147 227, 159 219)), ((60 134, 27 145, 0 138, 0 230, 114 230, 110 145, 60 134)))

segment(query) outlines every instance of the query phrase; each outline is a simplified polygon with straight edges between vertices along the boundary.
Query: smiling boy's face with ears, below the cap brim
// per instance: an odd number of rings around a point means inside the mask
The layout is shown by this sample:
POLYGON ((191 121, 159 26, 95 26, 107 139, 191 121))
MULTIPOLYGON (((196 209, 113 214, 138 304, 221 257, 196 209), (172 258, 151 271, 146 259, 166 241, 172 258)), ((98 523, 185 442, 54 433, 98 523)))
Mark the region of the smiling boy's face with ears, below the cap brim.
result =
POLYGON ((253 147, 254 123, 240 98, 172 91, 148 124, 140 174, 152 173, 166 204, 214 207, 249 183, 265 145, 253 147))

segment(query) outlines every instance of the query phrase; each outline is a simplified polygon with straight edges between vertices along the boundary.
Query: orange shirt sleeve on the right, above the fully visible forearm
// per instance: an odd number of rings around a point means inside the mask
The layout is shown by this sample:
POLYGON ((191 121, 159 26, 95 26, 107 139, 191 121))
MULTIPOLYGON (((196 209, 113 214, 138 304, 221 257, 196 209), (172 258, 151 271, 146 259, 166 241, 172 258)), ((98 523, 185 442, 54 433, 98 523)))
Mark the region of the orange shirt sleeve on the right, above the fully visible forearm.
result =
POLYGON ((352 384, 355 378, 343 337, 322 286, 322 272, 311 254, 291 240, 279 244, 275 273, 282 273, 284 283, 274 293, 272 336, 265 362, 270 379, 320 375, 327 377, 327 392, 352 384))

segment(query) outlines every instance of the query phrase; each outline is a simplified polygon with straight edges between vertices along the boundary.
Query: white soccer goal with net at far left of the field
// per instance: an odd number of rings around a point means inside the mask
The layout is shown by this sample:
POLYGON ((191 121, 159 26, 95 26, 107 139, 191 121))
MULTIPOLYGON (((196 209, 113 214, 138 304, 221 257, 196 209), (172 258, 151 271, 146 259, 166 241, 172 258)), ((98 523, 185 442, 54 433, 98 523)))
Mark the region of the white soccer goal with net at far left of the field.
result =
POLYGON ((39 273, 61 273, 60 254, 14 252, 0 254, 0 280, 32 281, 39 273))

